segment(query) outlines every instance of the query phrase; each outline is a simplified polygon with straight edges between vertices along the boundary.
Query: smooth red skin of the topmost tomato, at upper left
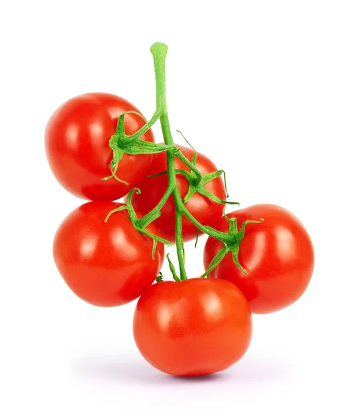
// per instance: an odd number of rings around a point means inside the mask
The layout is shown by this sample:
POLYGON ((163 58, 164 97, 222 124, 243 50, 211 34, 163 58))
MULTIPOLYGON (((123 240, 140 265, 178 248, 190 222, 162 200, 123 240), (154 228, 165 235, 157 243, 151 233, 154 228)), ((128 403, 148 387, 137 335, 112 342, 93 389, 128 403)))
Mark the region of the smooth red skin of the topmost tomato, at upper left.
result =
MULTIPOLYGON (((111 175, 113 152, 108 141, 118 117, 129 110, 139 112, 121 97, 92 92, 66 101, 51 115, 45 131, 47 159, 56 179, 70 193, 83 199, 113 201, 126 195, 145 175, 151 155, 124 155, 117 176, 129 186, 114 178, 102 181, 111 175)), ((124 117, 127 135, 144 123, 138 115, 124 117)), ((151 129, 141 139, 154 142, 151 129)))

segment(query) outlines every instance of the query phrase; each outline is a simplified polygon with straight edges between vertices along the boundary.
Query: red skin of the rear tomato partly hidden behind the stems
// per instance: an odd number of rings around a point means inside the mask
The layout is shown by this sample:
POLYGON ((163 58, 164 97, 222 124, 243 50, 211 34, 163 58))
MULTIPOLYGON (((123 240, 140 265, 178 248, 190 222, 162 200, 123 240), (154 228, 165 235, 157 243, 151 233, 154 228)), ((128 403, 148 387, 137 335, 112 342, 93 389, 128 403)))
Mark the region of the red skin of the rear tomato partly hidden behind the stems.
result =
MULTIPOLYGON (((189 149, 181 145, 177 145, 177 147, 181 149, 182 154, 184 154, 189 161, 192 161, 194 154, 193 149, 189 149)), ((175 158, 175 167, 178 170, 190 171, 189 168, 186 167, 183 162, 179 161, 178 158, 175 158)), ((197 158, 197 167, 202 174, 218 170, 218 168, 209 158, 207 158, 207 156, 199 153, 197 158)), ((152 160, 150 168, 147 170, 147 174, 158 174, 159 172, 166 170, 166 154, 156 154, 152 160)), ((177 187, 183 199, 188 192, 188 181, 182 174, 177 174, 176 178, 177 187)), ((168 176, 165 174, 160 177, 144 177, 138 183, 137 187, 140 188, 141 194, 133 195, 133 198, 131 199, 133 206, 141 213, 149 213, 149 211, 151 211, 152 208, 159 203, 163 193, 165 193, 166 188, 168 187, 168 176)), ((213 181, 210 181, 204 186, 204 188, 220 199, 226 199, 225 186, 222 177, 218 177, 213 181)), ((223 216, 224 206, 225 204, 212 202, 209 198, 198 193, 195 193, 195 195, 193 195, 193 197, 186 203, 188 211, 190 211, 190 213, 199 222, 211 227, 214 226, 214 224, 216 224, 216 222, 218 222, 223 216)), ((168 201, 161 209, 161 216, 157 218, 154 223, 157 227, 159 227, 163 238, 175 242, 175 202, 173 201, 172 196, 168 198, 168 201)), ((182 230, 183 240, 184 242, 187 242, 188 240, 192 240, 196 237, 198 229, 187 218, 183 217, 182 230)))

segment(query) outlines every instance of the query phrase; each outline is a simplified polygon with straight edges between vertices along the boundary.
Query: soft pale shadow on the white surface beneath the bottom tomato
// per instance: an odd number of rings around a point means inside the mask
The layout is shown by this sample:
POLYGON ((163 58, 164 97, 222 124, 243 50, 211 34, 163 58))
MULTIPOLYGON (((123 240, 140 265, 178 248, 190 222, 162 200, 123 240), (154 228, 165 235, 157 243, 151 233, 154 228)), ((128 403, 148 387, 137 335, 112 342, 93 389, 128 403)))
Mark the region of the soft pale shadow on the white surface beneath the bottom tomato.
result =
POLYGON ((269 361, 259 357, 246 357, 232 368, 204 377, 172 377, 159 372, 143 358, 106 355, 102 357, 81 357, 72 361, 74 373, 96 382, 117 382, 122 384, 163 384, 200 385, 227 382, 232 385, 275 382, 289 378, 291 369, 285 363, 269 361))

